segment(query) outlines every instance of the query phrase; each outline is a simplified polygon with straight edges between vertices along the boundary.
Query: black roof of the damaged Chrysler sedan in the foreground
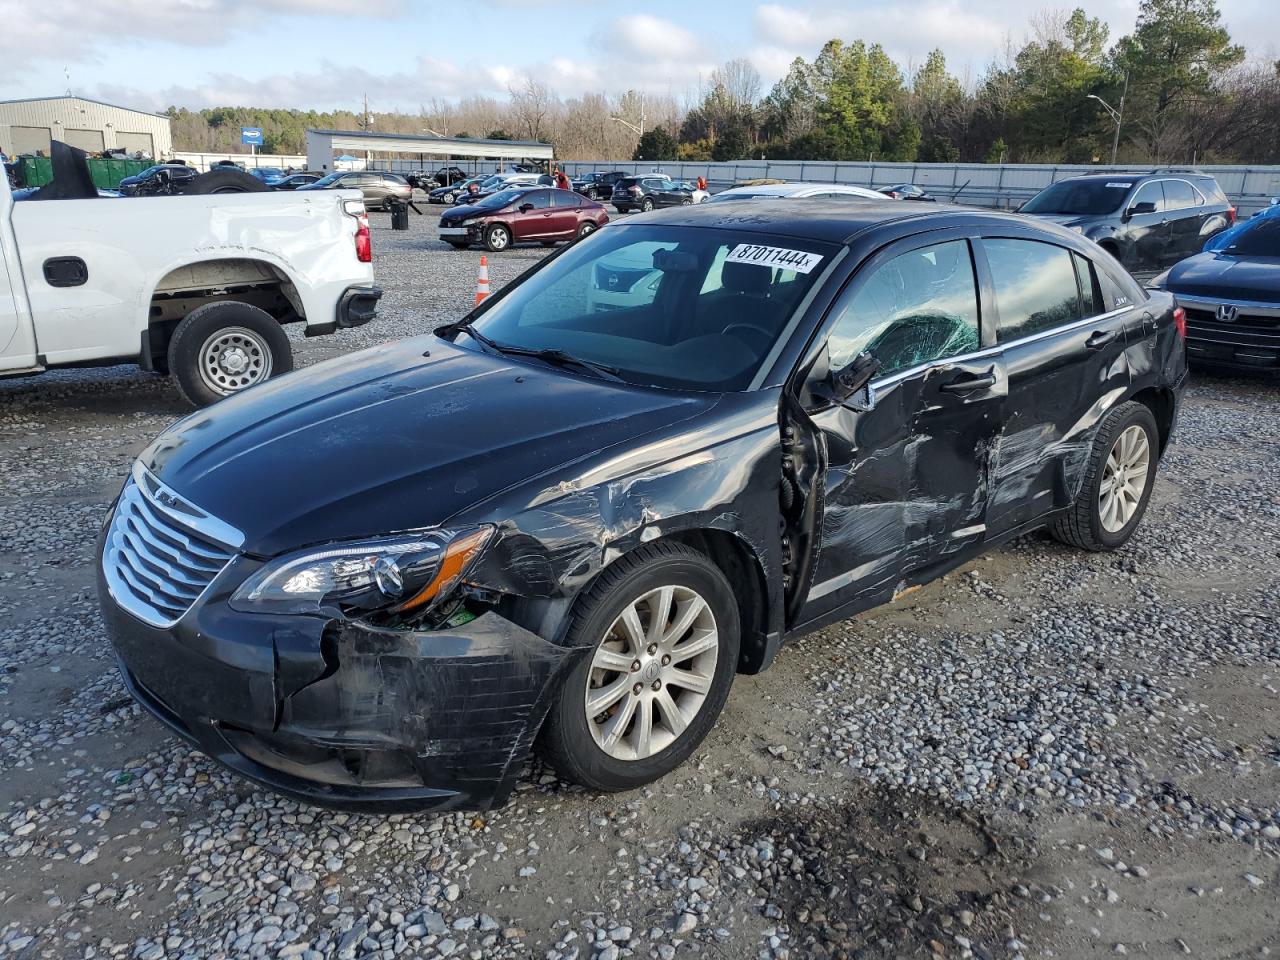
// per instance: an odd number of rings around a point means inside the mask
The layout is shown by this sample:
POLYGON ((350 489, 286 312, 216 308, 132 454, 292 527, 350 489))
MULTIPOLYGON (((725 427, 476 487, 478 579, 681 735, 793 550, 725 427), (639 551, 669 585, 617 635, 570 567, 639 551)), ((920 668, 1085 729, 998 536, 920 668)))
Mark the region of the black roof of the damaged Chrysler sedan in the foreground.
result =
POLYGON ((859 233, 887 224, 918 221, 919 232, 945 227, 1018 224, 1062 239, 1074 233, 1038 218, 952 204, 904 204, 901 200, 868 200, 865 204, 831 204, 799 198, 794 204, 760 204, 754 200, 724 200, 691 204, 614 221, 618 227, 666 223, 680 227, 740 229, 778 237, 806 237, 828 243, 847 243, 859 233), (925 209, 922 209, 925 207, 925 209))

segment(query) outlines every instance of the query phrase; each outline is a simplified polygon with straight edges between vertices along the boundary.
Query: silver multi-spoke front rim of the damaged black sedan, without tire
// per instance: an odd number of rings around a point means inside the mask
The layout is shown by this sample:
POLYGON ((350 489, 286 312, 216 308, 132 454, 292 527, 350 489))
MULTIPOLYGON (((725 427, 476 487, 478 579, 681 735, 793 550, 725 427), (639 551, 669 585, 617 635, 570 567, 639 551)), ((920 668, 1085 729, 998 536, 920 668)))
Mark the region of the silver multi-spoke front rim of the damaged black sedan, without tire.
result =
POLYGON ((591 657, 585 710, 609 756, 644 760, 680 739, 707 703, 719 658, 710 604, 687 586, 660 586, 617 616, 591 657))

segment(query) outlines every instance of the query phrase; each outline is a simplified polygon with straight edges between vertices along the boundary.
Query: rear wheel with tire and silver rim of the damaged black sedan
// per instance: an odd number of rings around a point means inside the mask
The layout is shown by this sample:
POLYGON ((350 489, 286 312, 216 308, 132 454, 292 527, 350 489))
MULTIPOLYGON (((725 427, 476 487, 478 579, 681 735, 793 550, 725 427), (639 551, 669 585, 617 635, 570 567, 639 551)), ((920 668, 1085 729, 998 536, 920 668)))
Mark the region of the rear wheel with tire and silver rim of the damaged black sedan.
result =
POLYGON ((1123 547, 1147 512, 1158 451, 1160 431, 1146 406, 1130 401, 1107 413, 1093 439, 1075 503, 1050 532, 1085 550, 1123 547))

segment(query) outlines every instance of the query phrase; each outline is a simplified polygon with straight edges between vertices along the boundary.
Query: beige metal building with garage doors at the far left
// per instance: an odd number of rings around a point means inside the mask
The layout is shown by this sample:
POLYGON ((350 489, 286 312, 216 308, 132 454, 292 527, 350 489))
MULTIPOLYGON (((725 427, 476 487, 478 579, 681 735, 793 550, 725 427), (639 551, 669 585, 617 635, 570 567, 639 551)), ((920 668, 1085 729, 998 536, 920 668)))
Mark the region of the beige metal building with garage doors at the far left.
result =
POLYGON ((0 151, 49 156, 60 140, 90 154, 124 150, 150 157, 173 152, 169 118, 84 97, 0 100, 0 151))

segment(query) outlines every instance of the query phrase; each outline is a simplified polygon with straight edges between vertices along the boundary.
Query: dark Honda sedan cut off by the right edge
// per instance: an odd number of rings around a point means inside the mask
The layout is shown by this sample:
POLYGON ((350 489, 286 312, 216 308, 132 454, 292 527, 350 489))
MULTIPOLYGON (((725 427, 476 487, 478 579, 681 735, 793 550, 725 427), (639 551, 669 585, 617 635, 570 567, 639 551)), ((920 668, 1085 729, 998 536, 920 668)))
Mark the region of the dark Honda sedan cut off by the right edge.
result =
POLYGON ((1151 285, 1185 308, 1193 364, 1280 374, 1280 216, 1240 224, 1226 246, 1183 260, 1151 285))

